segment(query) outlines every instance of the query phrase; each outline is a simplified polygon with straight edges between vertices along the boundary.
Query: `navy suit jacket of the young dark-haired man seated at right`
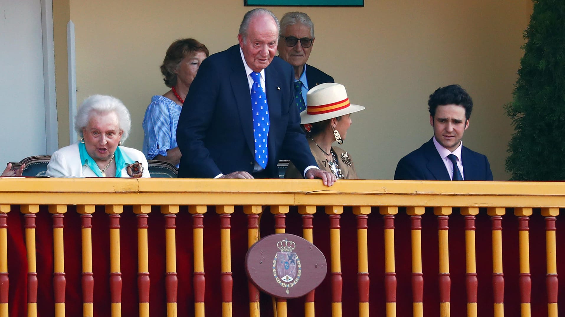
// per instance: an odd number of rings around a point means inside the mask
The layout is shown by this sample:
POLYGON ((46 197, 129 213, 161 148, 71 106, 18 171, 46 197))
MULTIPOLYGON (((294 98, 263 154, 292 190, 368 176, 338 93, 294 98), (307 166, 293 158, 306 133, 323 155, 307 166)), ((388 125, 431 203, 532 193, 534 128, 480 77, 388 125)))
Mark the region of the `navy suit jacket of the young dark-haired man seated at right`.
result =
MULTIPOLYGON (((464 180, 493 180, 485 155, 463 146, 461 149, 464 180)), ((396 180, 451 180, 449 172, 433 144, 433 137, 419 149, 403 157, 394 172, 396 180)))

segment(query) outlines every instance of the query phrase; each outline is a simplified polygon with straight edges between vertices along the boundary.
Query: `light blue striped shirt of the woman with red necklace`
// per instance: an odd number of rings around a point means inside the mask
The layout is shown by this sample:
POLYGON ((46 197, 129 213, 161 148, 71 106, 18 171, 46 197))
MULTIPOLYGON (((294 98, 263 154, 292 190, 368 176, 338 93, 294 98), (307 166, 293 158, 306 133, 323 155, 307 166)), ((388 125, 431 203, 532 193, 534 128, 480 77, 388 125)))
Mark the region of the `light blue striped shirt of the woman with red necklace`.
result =
MULTIPOLYGON (((162 95, 154 95, 143 119, 143 154, 147 159, 167 156, 167 150, 178 147, 176 128, 182 106, 162 95)), ((177 164, 176 167, 179 167, 177 164)))

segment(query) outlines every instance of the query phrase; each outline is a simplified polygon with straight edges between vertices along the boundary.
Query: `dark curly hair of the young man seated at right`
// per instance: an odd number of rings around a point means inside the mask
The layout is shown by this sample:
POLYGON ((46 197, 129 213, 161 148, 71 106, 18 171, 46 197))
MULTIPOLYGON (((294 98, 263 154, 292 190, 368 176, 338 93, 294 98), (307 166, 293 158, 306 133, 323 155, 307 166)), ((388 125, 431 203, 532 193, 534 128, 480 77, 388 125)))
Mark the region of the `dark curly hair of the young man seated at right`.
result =
POLYGON ((437 106, 445 105, 458 105, 465 108, 465 118, 469 120, 471 118, 471 111, 473 111, 473 99, 467 93, 467 90, 463 89, 459 85, 449 85, 442 88, 436 89, 433 94, 429 95, 428 100, 428 110, 429 115, 434 118, 436 116, 437 106))

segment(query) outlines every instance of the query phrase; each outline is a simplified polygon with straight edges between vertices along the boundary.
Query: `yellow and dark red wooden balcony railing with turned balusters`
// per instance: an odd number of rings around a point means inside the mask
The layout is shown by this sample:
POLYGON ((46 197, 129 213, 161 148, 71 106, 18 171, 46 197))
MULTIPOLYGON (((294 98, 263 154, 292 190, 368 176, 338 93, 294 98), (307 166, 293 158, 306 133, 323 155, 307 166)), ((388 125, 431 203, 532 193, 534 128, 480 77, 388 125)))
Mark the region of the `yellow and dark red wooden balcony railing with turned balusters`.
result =
POLYGON ((563 207, 565 183, 2 178, 0 317, 557 317, 563 207), (329 265, 288 301, 243 268, 285 232, 329 265))

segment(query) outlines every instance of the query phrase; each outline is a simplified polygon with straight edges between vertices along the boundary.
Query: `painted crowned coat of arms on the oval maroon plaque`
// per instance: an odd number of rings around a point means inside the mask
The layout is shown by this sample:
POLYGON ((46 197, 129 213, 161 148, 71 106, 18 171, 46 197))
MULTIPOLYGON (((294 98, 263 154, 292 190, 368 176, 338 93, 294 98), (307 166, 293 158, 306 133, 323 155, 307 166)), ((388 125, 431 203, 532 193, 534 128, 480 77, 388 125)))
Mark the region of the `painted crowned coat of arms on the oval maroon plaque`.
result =
POLYGON ((296 244, 286 237, 277 242, 277 247, 280 252, 277 252, 273 259, 273 276, 279 285, 286 288, 286 294, 289 294, 289 288, 296 285, 301 276, 300 259, 298 254, 293 252, 296 244))

